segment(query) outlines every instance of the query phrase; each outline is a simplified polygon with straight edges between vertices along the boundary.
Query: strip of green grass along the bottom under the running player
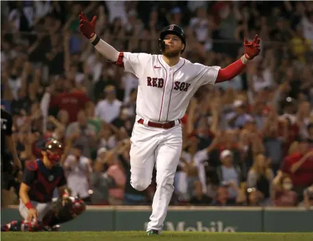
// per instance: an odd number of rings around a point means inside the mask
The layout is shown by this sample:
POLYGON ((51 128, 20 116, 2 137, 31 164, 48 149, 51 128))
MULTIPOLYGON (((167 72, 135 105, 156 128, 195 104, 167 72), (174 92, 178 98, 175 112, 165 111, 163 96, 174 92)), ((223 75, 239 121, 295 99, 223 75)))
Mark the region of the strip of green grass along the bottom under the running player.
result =
POLYGON ((147 236, 145 231, 1 233, 1 241, 115 241, 115 240, 210 240, 210 241, 312 241, 313 233, 207 233, 170 232, 147 236))

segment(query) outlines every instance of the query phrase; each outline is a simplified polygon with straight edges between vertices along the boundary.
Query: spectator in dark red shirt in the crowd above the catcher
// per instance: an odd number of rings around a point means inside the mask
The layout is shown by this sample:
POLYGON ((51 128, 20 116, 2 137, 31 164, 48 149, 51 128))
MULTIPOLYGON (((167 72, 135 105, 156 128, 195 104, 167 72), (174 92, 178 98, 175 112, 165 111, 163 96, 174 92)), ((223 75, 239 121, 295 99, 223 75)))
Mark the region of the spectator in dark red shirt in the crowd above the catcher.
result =
POLYGON ((58 107, 59 110, 66 110, 69 122, 77 121, 77 114, 80 110, 85 110, 90 99, 80 90, 76 90, 73 83, 64 80, 64 92, 51 99, 50 107, 58 107))

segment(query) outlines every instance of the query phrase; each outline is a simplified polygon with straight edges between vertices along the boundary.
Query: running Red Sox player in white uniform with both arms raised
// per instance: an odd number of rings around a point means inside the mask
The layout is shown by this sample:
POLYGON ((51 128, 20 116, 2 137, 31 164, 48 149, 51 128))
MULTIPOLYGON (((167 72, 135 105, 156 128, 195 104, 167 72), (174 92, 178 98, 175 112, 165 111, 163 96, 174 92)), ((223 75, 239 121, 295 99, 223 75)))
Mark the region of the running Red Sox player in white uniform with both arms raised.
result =
POLYGON ((131 183, 145 190, 151 183, 153 166, 157 170, 157 189, 148 235, 162 231, 168 203, 173 194, 174 175, 181 155, 181 121, 193 94, 200 86, 227 81, 241 73, 247 62, 260 53, 260 39, 245 40, 245 55, 226 68, 193 64, 181 58, 186 48, 184 31, 170 25, 160 33, 162 55, 119 52, 95 33, 97 16, 89 22, 79 15, 79 29, 107 60, 138 77, 136 123, 130 150, 131 183))

